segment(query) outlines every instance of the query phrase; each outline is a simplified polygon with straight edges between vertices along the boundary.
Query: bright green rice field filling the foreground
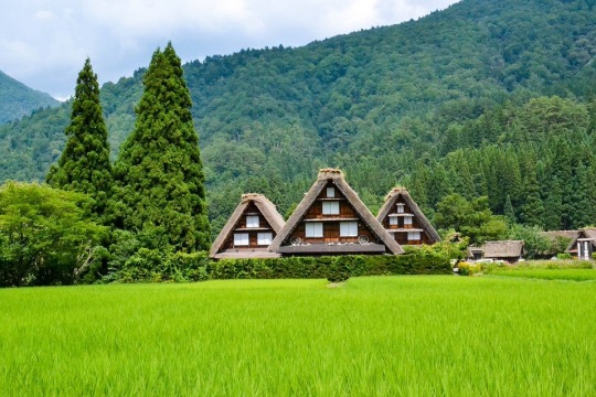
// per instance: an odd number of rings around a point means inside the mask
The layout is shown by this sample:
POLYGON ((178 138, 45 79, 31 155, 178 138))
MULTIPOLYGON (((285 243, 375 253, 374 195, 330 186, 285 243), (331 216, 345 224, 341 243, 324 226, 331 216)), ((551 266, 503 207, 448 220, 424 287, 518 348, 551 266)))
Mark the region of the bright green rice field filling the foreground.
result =
POLYGON ((596 282, 0 290, 0 394, 594 396, 596 282))

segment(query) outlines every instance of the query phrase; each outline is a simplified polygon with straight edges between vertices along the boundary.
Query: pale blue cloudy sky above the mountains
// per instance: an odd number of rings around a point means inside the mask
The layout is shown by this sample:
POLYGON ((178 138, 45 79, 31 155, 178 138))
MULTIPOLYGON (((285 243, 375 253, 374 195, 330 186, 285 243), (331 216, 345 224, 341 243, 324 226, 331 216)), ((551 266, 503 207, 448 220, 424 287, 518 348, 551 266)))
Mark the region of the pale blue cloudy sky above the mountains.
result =
POLYGON ((99 82, 147 66, 171 41, 182 61, 300 46, 441 10, 455 0, 23 0, 0 13, 0 71, 58 99, 87 56, 99 82))

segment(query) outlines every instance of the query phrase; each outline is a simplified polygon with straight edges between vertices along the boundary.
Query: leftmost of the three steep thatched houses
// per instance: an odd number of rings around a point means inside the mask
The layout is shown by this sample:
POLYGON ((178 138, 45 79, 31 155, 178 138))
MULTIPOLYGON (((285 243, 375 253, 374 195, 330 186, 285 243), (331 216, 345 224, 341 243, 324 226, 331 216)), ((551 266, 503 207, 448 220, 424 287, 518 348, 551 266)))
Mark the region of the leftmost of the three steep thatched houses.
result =
POLYGON ((236 210, 211 246, 209 256, 224 258, 277 258, 267 250, 284 226, 277 207, 262 194, 243 194, 236 210))

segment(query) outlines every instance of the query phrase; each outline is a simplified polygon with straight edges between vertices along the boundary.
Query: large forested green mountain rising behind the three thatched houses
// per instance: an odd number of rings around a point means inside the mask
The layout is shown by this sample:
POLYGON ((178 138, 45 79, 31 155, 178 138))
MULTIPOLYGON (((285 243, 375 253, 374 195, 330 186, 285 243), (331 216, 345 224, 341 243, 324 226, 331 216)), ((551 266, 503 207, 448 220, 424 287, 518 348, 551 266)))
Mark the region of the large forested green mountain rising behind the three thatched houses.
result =
MULTIPOLYGON (((595 56, 596 0, 462 0, 418 21, 189 63, 214 228, 243 192, 288 211, 324 165, 373 211, 405 184, 430 216, 459 192, 488 195, 499 214, 509 200, 542 227, 596 223, 571 197, 596 174, 595 56)), ((102 88, 113 158, 142 74, 102 88)), ((0 128, 0 180, 43 180, 68 106, 0 128)))

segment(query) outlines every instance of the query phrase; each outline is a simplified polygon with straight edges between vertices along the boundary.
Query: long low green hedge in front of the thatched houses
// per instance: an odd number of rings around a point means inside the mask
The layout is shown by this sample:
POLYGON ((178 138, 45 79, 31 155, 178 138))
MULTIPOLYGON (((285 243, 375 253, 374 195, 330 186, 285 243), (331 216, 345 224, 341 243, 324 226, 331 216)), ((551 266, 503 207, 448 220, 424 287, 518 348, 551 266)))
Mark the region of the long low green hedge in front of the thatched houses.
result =
POLYGON ((356 276, 449 275, 449 256, 419 249, 400 256, 288 257, 211 260, 205 253, 162 255, 140 249, 105 281, 162 282, 222 279, 308 279, 337 282, 356 276))

